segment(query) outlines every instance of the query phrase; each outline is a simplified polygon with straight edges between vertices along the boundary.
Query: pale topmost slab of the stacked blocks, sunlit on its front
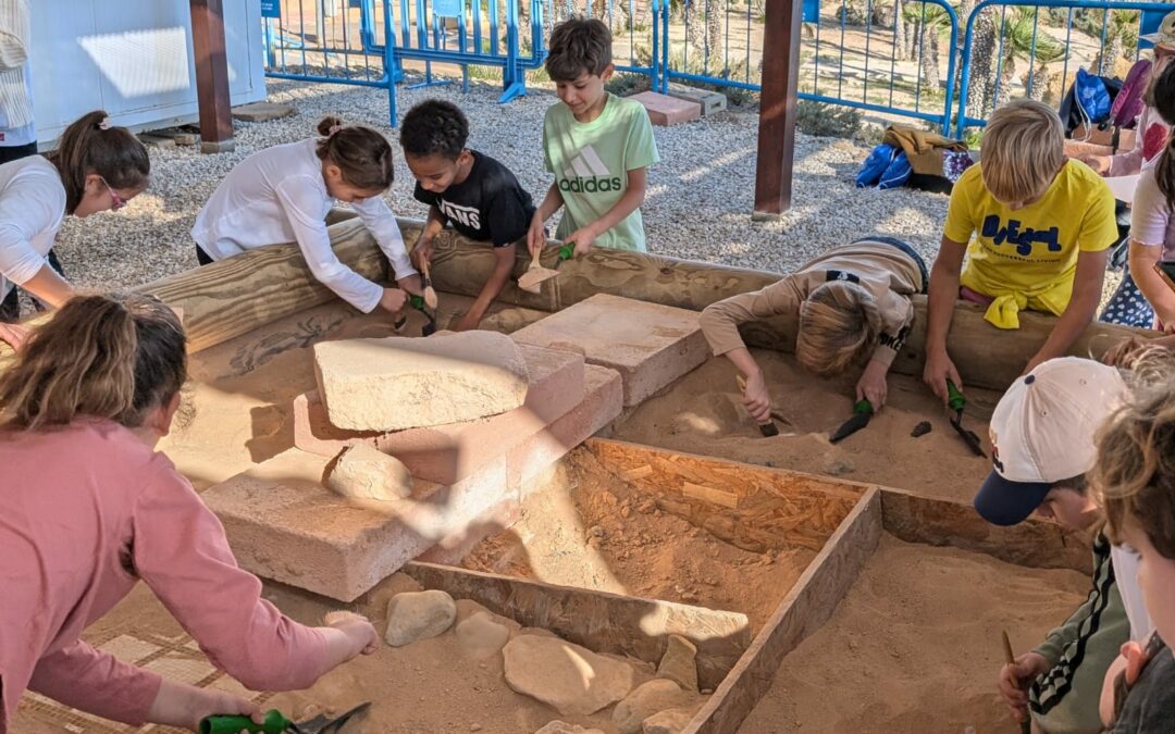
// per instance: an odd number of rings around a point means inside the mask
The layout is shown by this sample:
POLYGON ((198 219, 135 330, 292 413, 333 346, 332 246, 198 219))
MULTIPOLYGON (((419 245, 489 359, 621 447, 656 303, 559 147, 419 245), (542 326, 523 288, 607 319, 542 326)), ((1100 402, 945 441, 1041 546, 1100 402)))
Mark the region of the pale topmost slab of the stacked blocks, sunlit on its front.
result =
POLYGON ((314 357, 330 423, 351 431, 476 420, 526 399, 522 352, 492 331, 322 342, 314 357))

